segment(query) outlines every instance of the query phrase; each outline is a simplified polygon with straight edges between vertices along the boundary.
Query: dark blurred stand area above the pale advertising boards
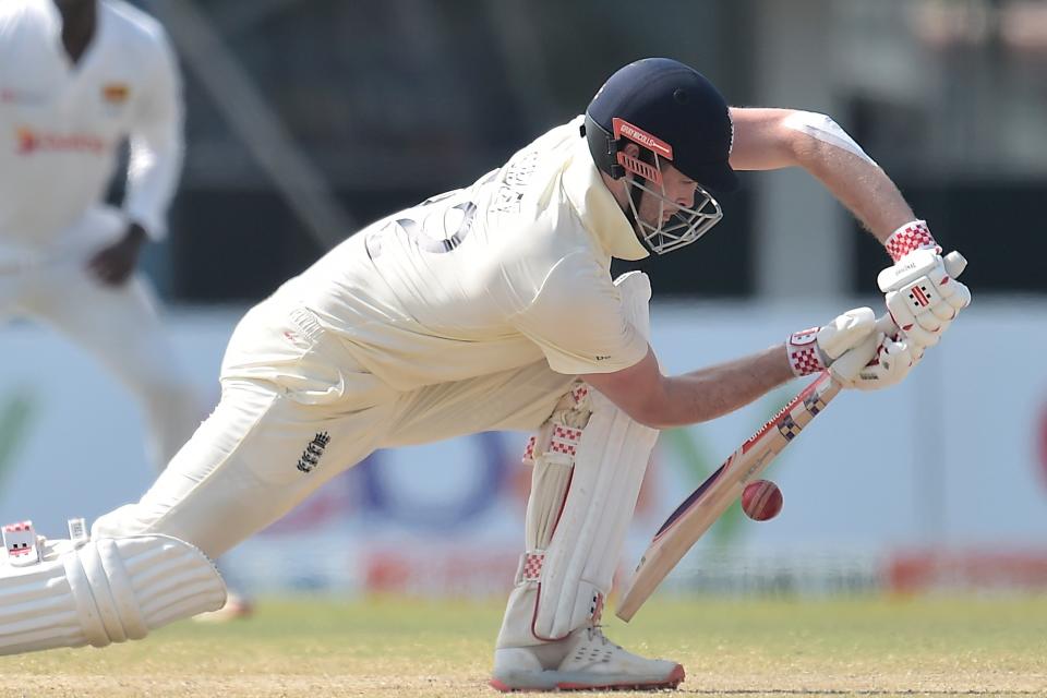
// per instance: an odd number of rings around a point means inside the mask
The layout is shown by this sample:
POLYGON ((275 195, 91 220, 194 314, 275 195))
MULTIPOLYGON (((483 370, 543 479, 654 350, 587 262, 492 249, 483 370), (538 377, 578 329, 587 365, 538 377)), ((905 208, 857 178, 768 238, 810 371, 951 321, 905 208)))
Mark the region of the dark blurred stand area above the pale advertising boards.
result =
MULTIPOLYGON (((976 261, 971 285, 1047 290, 1035 255, 1023 266, 1000 244, 1035 225, 1047 180, 1043 2, 141 4, 185 74, 178 234, 155 265, 176 301, 262 298, 340 240, 340 225, 471 183, 647 56, 696 67, 734 105, 833 115, 938 238, 976 261)), ((659 292, 875 291, 881 251, 810 178, 744 183, 715 236, 659 265, 659 292)))

